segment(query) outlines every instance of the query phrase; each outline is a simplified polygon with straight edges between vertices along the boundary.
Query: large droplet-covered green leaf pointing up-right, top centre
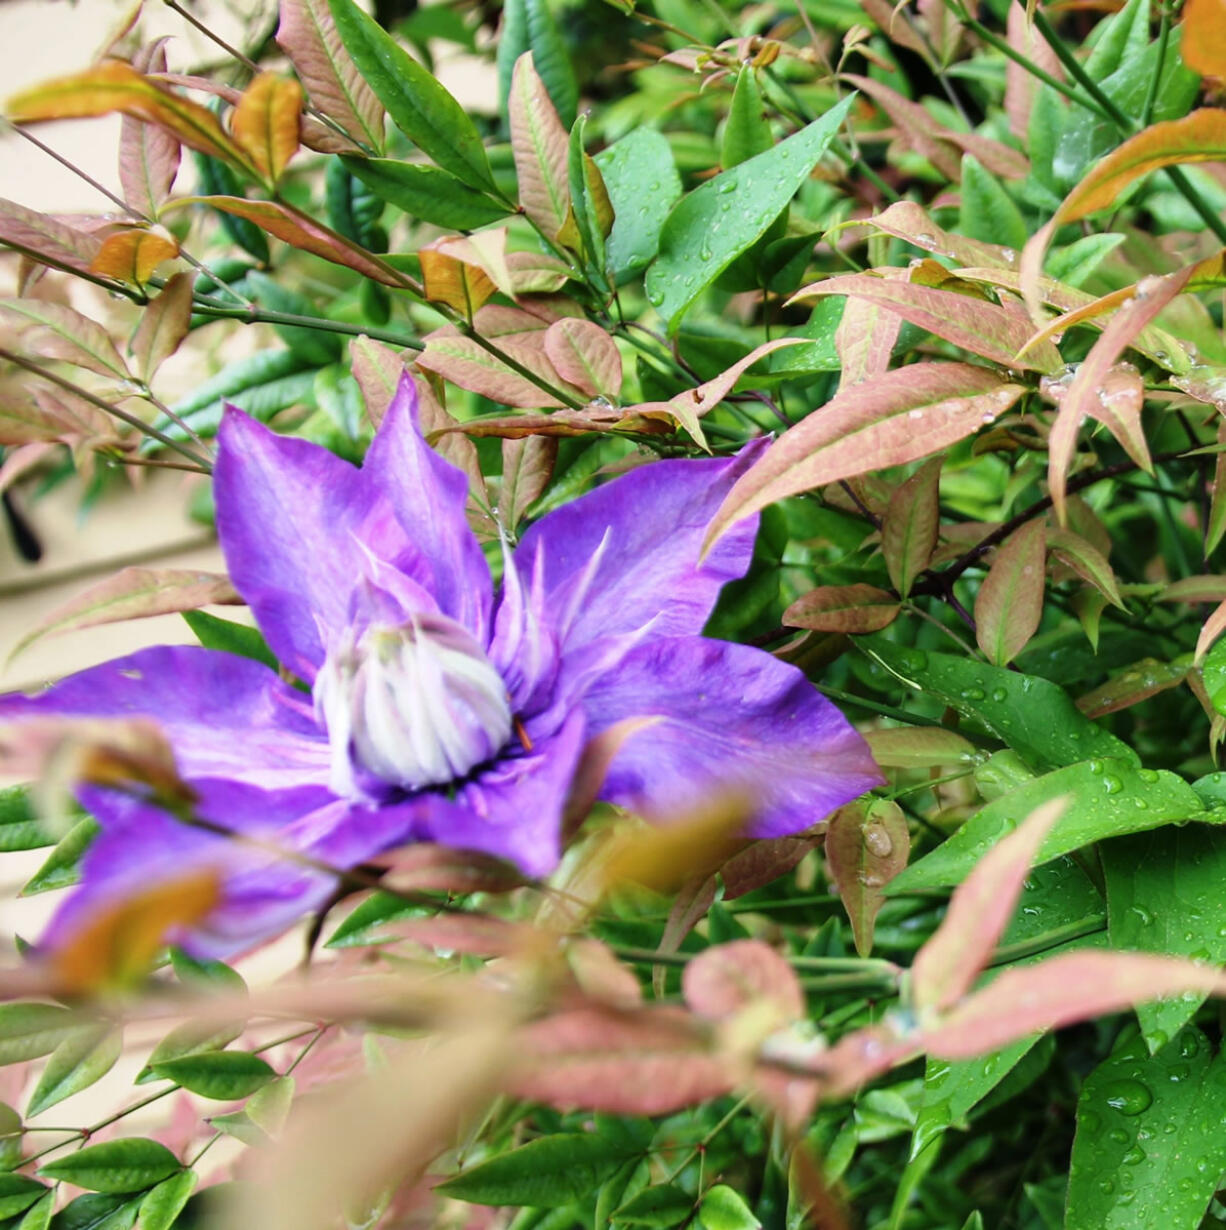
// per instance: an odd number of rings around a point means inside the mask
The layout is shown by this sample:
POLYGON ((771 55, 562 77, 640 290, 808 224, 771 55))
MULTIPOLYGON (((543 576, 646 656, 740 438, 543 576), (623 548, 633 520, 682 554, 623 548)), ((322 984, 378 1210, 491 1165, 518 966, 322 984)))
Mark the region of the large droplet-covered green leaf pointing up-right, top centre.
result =
POLYGON ((673 208, 660 231, 659 256, 647 272, 647 296, 669 332, 676 332, 694 300, 766 232, 808 180, 853 98, 844 98, 765 154, 708 180, 673 208))

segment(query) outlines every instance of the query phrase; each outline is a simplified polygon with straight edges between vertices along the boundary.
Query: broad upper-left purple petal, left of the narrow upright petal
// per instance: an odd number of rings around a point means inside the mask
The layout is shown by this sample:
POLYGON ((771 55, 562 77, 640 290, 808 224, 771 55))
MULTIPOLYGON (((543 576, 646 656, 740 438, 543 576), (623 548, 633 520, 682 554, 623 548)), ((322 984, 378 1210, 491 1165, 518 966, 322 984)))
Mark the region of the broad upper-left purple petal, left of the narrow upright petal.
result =
POLYGON ((422 550, 394 514, 385 476, 234 408, 218 439, 218 535, 230 577, 277 657, 314 683, 369 561, 422 583, 422 550))

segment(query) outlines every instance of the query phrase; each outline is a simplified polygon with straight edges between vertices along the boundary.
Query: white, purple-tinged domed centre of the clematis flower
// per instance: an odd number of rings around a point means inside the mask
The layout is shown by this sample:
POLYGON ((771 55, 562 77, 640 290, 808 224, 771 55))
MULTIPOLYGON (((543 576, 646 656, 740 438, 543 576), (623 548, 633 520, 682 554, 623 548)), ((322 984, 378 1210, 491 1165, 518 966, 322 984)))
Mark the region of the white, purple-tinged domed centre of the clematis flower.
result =
POLYGON ((512 732, 502 676, 440 615, 370 625, 328 654, 314 697, 332 745, 332 788, 344 796, 380 784, 422 790, 455 781, 512 732))

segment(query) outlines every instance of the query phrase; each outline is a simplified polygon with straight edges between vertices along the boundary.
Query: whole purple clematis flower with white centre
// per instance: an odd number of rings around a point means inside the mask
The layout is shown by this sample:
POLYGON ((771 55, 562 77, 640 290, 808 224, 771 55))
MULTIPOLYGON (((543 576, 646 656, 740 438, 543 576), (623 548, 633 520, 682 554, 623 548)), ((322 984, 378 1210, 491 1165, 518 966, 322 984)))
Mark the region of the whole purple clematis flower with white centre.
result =
MULTIPOLYGON (((246 658, 159 647, 2 697, 0 720, 152 718, 199 817, 338 868, 438 841, 548 872, 584 747, 627 718, 652 721, 620 744, 600 797, 649 819, 744 787, 760 800, 755 835, 780 836, 879 784, 799 670, 700 635, 749 566, 753 522, 697 562, 746 454, 659 461, 557 509, 504 547, 496 594, 467 482, 423 440, 407 376, 360 469, 236 410, 219 442, 230 576, 310 691, 246 658)), ((130 793, 80 793, 102 831, 48 946, 189 870, 221 883, 209 918, 176 937, 202 956, 277 935, 334 888, 130 793)))

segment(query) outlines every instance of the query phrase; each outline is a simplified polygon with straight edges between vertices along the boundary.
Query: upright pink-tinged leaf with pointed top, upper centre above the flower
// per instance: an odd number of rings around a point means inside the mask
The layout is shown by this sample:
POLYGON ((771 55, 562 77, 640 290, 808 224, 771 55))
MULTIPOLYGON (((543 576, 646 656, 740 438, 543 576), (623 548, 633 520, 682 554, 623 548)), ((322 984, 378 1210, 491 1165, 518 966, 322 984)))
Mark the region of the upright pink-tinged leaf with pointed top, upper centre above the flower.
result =
POLYGON ((520 204, 529 219, 555 239, 566 225, 571 208, 569 140, 532 64, 531 52, 524 52, 515 62, 508 114, 520 204))

